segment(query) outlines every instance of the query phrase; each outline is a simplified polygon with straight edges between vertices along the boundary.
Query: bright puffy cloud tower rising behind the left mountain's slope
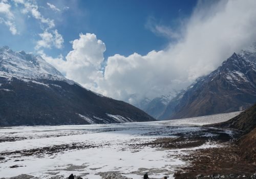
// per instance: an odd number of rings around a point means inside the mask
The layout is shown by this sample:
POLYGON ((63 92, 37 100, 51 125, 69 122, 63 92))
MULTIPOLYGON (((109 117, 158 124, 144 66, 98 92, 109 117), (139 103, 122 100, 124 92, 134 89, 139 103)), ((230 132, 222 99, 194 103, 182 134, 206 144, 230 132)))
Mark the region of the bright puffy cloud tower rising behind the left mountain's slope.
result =
POLYGON ((80 34, 79 39, 72 42, 73 50, 64 60, 61 56, 52 58, 40 51, 40 55, 57 70, 89 89, 97 87, 103 78, 101 63, 104 60, 105 44, 95 34, 80 34))

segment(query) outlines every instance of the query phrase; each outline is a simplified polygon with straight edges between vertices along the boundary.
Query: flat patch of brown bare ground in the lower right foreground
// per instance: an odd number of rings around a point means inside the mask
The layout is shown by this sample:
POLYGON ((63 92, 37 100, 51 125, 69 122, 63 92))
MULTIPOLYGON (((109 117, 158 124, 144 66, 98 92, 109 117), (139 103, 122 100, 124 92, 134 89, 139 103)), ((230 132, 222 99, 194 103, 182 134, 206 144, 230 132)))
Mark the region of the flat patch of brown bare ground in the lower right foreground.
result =
POLYGON ((182 159, 190 165, 180 168, 175 174, 176 179, 197 178, 200 174, 249 177, 256 172, 256 161, 245 160, 241 148, 234 144, 220 148, 198 149, 187 156, 182 156, 182 159))

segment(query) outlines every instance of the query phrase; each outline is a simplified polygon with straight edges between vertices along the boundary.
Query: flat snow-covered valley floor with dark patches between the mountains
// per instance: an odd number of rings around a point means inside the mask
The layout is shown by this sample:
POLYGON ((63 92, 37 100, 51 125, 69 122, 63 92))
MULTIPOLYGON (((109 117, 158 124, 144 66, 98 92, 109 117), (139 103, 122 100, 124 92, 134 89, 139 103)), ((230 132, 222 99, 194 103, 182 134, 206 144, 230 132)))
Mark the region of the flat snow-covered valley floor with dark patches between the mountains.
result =
POLYGON ((219 134, 233 135, 230 130, 191 125, 222 122, 238 114, 143 123, 0 128, 0 175, 66 178, 73 173, 101 178, 98 172, 116 171, 132 178, 142 178, 145 172, 150 177, 173 178, 177 167, 189 165, 181 155, 198 148, 220 147, 212 139, 219 134), (179 140, 169 143, 166 139, 179 140))

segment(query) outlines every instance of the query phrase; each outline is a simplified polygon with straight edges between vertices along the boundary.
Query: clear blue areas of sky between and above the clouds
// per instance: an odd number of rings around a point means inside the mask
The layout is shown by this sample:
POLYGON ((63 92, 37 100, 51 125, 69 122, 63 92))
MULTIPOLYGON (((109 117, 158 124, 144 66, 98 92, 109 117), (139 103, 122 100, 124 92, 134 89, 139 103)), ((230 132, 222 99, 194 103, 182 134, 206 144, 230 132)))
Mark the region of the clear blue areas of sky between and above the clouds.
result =
MULTIPOLYGON (((10 4, 14 16, 20 16, 15 20, 19 34, 13 35, 8 27, 0 24, 0 46, 35 52, 36 41, 40 38, 38 34, 42 33, 41 23, 28 17, 29 14, 19 13, 22 5, 15 7, 11 1, 10 4)), ((134 52, 145 55, 165 48, 171 39, 152 32, 148 26, 180 26, 180 19, 191 14, 196 1, 37 1, 35 4, 45 18, 54 20, 55 29, 64 39, 62 49, 45 49, 47 54, 66 56, 72 49, 70 41, 78 38, 79 33, 94 33, 106 44, 106 58, 134 52), (47 3, 61 11, 52 10, 47 3), (69 9, 62 10, 65 7, 69 9)))

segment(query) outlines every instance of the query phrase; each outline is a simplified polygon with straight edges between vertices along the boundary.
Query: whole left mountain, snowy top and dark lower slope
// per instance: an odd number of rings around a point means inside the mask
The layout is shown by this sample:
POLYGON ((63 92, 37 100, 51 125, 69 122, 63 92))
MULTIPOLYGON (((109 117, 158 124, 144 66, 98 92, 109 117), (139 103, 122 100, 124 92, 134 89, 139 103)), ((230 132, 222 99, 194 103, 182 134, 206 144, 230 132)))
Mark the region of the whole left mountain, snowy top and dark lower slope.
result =
POLYGON ((40 56, 0 48, 0 126, 153 121, 66 79, 40 56))

